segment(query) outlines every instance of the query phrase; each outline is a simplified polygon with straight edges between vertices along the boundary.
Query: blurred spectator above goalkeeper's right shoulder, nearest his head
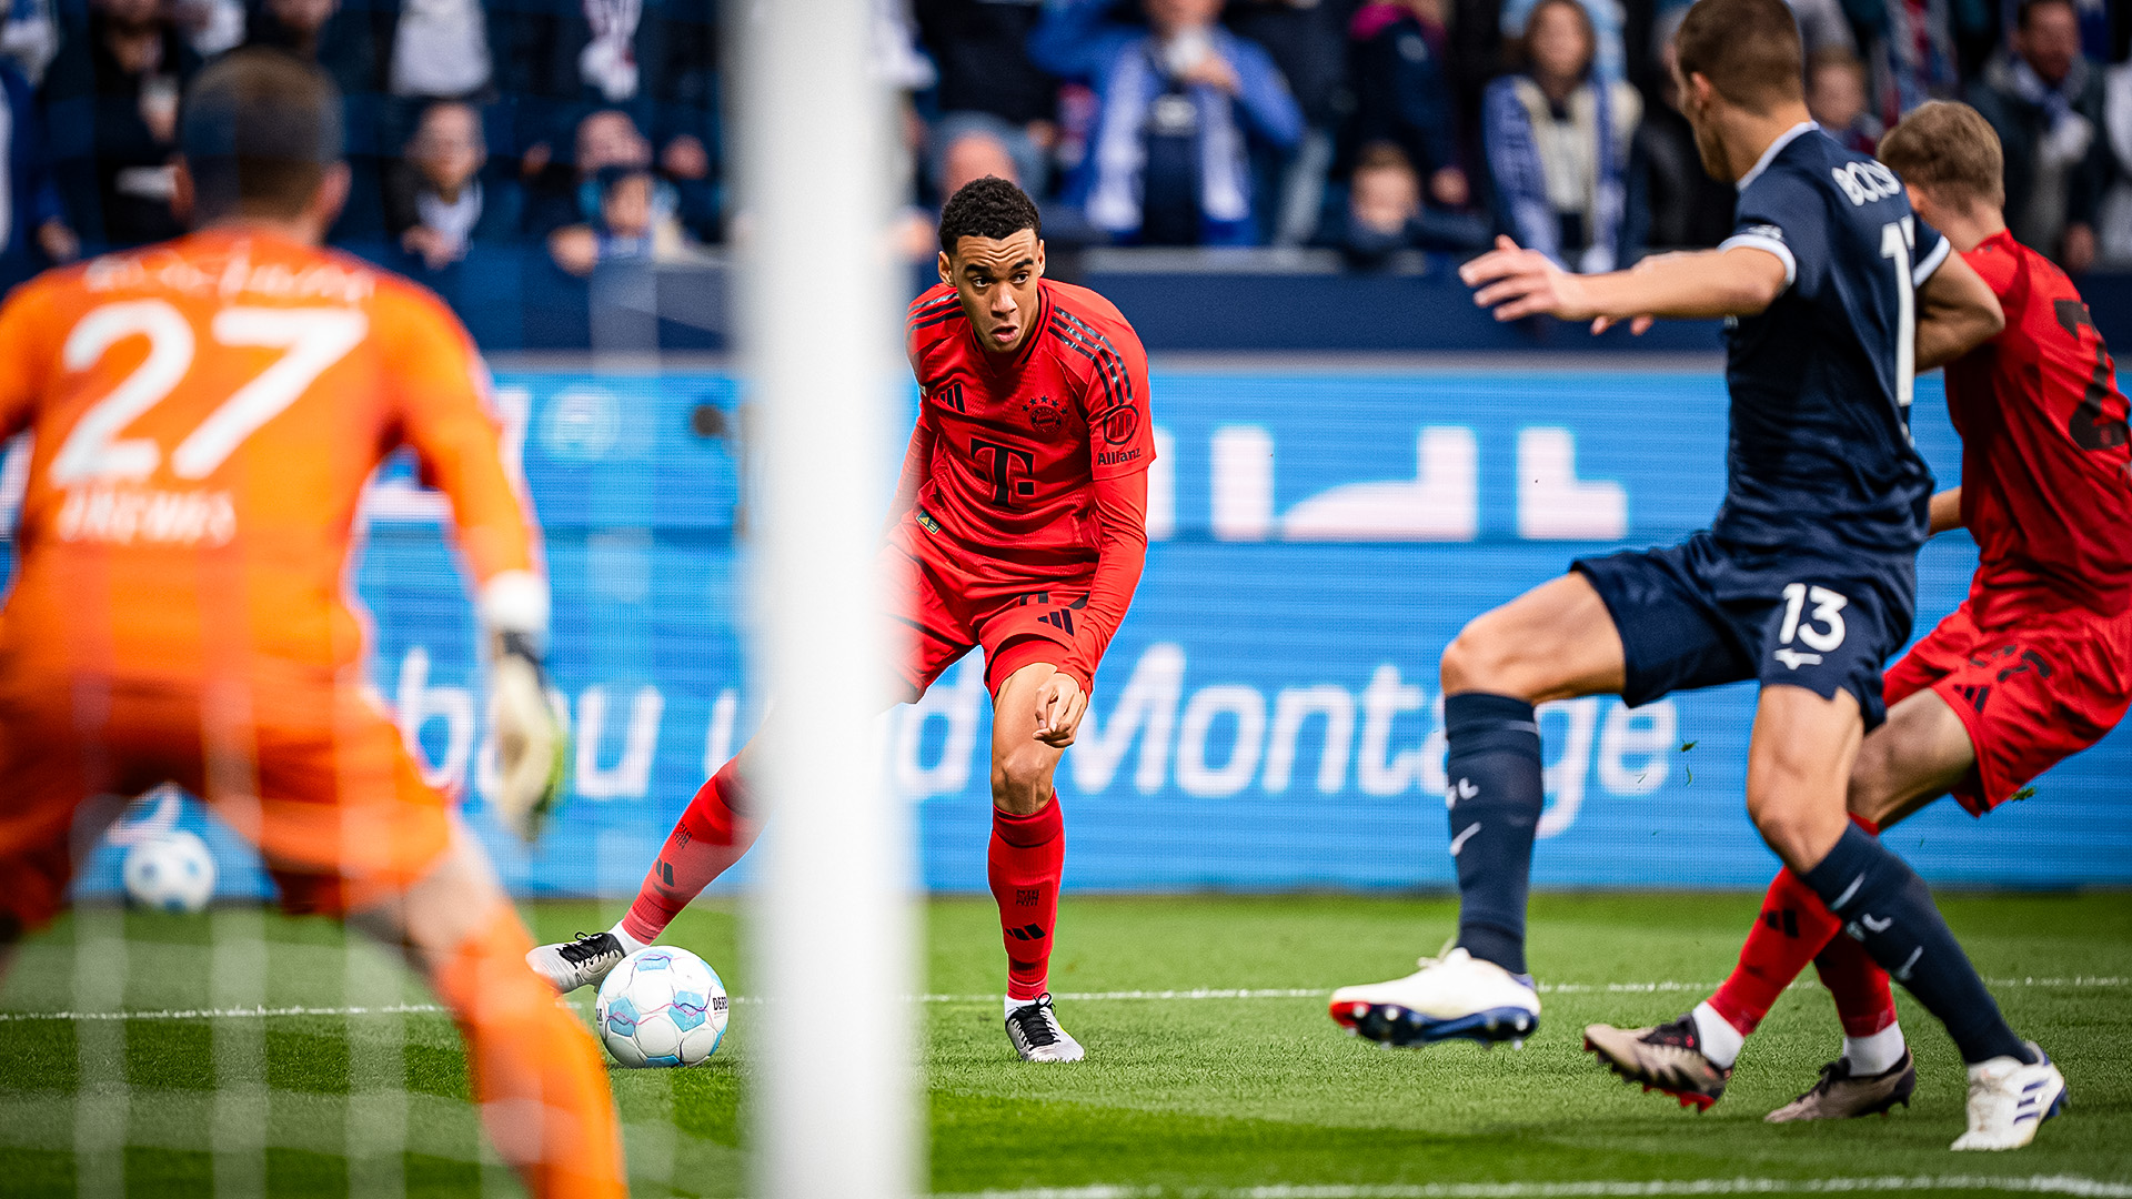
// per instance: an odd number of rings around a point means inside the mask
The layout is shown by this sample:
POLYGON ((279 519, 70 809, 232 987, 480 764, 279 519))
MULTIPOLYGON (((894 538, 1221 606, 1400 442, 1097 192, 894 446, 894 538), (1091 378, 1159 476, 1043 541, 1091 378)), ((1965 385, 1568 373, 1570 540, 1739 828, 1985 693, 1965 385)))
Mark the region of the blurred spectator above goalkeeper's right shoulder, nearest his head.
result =
POLYGON ((486 166, 488 143, 473 105, 439 100, 422 109, 407 156, 386 177, 386 226, 401 250, 441 271, 475 241, 512 241, 518 188, 486 166))

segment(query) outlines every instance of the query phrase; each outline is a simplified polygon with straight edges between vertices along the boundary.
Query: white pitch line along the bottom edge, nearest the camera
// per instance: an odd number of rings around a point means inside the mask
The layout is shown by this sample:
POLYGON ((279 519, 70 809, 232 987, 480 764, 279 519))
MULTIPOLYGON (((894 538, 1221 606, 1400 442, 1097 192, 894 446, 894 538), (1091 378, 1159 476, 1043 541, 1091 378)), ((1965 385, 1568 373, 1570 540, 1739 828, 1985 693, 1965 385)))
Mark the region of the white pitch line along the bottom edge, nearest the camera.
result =
POLYGON ((979 1190, 936 1199, 1614 1199, 1644 1195, 1857 1195, 1876 1190, 2006 1190, 2017 1195, 2074 1195, 2079 1199, 2132 1199, 2132 1184, 2070 1173, 2004 1176, 1866 1176, 1866 1178, 1695 1178, 1659 1182, 1428 1182, 1388 1186, 1038 1186, 979 1190))

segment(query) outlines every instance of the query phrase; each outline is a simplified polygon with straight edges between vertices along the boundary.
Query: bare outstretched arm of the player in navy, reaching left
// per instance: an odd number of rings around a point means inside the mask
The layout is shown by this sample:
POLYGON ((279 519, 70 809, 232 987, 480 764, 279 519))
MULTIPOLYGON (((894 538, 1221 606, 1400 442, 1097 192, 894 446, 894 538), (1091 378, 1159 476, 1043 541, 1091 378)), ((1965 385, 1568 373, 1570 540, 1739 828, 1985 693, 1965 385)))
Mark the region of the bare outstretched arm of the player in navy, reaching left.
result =
POLYGON ((1784 292, 1784 262, 1776 254, 1735 245, 1697 254, 1659 254, 1627 271, 1571 275, 1537 250, 1507 237, 1458 269, 1477 288, 1473 303, 1492 307, 1497 320, 1556 316, 1590 320, 1593 333, 1629 320, 1642 333, 1652 318, 1755 316, 1784 292))

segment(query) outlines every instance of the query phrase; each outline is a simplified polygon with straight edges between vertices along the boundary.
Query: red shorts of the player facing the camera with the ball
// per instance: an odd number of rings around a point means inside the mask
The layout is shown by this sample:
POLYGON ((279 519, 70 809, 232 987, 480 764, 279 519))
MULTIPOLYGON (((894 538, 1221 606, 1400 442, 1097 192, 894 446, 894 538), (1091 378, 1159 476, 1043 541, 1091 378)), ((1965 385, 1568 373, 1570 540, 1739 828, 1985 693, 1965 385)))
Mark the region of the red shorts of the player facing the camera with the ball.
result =
MULTIPOLYGON (((923 693, 974 646, 985 649, 985 689, 994 696, 1023 666, 1064 670, 1094 565, 1049 580, 964 557, 934 538, 942 535, 906 521, 881 550, 895 619, 912 629, 902 670, 910 689, 923 693)), ((1079 683, 1083 691, 1089 685, 1079 683)))

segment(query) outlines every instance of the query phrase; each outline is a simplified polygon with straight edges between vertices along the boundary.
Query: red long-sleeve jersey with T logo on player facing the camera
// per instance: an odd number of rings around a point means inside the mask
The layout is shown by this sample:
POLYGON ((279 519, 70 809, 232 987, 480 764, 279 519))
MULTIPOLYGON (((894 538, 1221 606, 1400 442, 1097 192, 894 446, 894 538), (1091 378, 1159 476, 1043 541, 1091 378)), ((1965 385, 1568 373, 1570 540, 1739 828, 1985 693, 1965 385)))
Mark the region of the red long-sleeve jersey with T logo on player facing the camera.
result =
POLYGON ((962 570, 1085 587, 1062 670, 1087 687, 1147 561, 1138 335, 1096 292, 1040 279, 1030 335, 994 354, 938 284, 910 305, 908 350, 921 399, 898 514, 962 570))

